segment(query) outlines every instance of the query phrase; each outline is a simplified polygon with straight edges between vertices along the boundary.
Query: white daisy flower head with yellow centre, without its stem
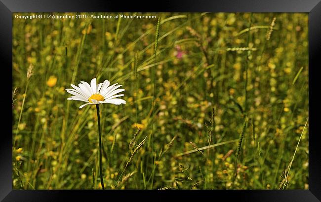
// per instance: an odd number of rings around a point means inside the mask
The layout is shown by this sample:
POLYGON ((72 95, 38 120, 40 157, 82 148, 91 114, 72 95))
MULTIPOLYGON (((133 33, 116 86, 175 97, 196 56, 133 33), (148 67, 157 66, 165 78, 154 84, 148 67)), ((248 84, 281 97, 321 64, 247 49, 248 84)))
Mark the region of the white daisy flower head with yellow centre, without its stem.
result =
POLYGON ((103 83, 96 84, 96 78, 90 81, 90 85, 87 82, 80 81, 78 86, 71 84, 74 89, 67 88, 67 92, 74 95, 67 98, 67 100, 74 101, 85 101, 88 103, 82 104, 79 108, 81 109, 87 104, 125 104, 126 101, 119 99, 118 97, 124 96, 124 94, 116 95, 125 89, 118 89, 122 85, 115 83, 110 86, 110 82, 105 80, 103 83))

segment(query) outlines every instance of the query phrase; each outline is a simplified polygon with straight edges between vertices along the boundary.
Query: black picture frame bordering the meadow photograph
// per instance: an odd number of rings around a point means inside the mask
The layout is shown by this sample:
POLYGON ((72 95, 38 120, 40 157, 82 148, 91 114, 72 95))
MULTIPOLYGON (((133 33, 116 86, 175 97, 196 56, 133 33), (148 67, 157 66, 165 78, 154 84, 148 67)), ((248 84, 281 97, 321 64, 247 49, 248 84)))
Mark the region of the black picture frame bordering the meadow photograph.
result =
MULTIPOLYGON (((315 202, 321 200, 321 147, 318 133, 318 62, 321 52, 321 2, 320 0, 163 0, 150 1, 98 1, 98 0, 0 0, 0 58, 1 74, 5 97, 9 98, 11 88, 5 80, 10 80, 12 67, 12 13, 14 12, 307 12, 309 13, 309 190, 13 190, 12 189, 12 130, 3 122, 0 147, 0 200, 11 201, 65 201, 67 196, 78 201, 96 201, 93 197, 117 195, 118 199, 167 200, 169 193, 183 200, 186 197, 210 199, 255 201, 255 202, 315 202), (7 70, 8 69, 8 70, 7 70), (6 75, 8 74, 8 75, 6 75), (314 118, 315 117, 315 118, 314 118), (11 132, 10 132, 11 131, 11 132), (144 192, 144 193, 142 193, 144 192), (203 192, 203 193, 202 193, 203 192), (215 197, 214 197, 215 196, 215 197)), ((320 80, 320 79, 319 79, 320 80)), ((12 82, 12 80, 11 80, 12 82)), ((4 94, 3 94, 4 95, 4 94)), ((9 99, 1 99, 3 108, 9 109, 9 99)), ((2 112, 3 114, 4 112, 2 112)), ((5 113, 10 113, 8 112, 5 113)), ((3 114, 4 115, 4 114, 3 114)), ((12 115, 12 114, 11 114, 12 115)), ((9 121, 10 115, 4 115, 9 121)), ((106 198, 107 197, 107 198, 106 198)))

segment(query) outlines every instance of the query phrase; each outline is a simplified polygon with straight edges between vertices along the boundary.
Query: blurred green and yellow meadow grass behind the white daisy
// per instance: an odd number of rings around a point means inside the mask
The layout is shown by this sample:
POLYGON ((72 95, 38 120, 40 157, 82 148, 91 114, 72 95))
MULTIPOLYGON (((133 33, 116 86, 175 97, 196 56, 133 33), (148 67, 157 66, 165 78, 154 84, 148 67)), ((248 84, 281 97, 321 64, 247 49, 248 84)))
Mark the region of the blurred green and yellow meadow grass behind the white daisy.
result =
POLYGON ((13 188, 100 189, 95 107, 65 91, 97 77, 126 89, 100 105, 107 189, 278 189, 301 134, 285 188, 308 189, 308 14, 136 14, 156 19, 13 15, 13 188))

